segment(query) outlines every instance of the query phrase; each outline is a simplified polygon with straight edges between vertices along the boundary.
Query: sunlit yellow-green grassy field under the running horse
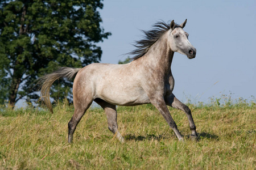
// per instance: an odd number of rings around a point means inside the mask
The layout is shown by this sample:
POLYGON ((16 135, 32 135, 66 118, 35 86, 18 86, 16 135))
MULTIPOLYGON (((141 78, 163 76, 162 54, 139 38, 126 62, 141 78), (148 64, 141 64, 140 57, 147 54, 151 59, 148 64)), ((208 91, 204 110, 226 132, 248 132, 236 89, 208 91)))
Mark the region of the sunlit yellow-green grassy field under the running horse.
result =
POLYGON ((86 112, 67 142, 73 108, 0 109, 0 169, 256 169, 256 105, 189 105, 199 141, 191 141, 185 114, 170 109, 184 135, 152 105, 118 107, 121 144, 102 109, 86 112))

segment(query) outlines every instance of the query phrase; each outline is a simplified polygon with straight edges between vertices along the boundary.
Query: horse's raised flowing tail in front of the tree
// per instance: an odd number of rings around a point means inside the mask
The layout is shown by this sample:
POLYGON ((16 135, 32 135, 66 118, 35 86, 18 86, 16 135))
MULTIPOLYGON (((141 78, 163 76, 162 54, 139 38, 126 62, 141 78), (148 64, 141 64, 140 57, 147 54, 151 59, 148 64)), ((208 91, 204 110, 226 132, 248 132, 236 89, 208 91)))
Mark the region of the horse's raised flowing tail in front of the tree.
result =
POLYGON ((80 69, 71 68, 71 67, 60 67, 60 69, 54 71, 51 74, 44 75, 39 78, 38 84, 39 84, 39 90, 41 90, 40 98, 42 103, 46 104, 47 108, 51 113, 52 111, 52 105, 49 98, 49 92, 52 84, 55 82, 55 80, 60 78, 68 78, 72 79, 76 76, 77 72, 79 72, 80 69))

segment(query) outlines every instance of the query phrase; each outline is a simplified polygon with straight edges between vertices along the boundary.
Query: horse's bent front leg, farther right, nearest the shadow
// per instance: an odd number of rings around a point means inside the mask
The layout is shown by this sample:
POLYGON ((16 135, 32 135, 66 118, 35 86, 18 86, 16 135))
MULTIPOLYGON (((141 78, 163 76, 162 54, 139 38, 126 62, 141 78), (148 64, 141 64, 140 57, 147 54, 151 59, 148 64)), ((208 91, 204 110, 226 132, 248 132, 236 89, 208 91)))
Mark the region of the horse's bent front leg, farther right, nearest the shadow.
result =
POLYGON ((196 133, 196 125, 194 123, 192 114, 191 114, 191 110, 187 107, 187 105, 181 103, 175 96, 174 94, 168 95, 165 97, 166 100, 166 104, 169 105, 170 107, 179 109, 183 112, 185 112, 187 114, 188 117, 188 122, 189 122, 189 127, 190 130, 192 131, 192 134, 190 135, 190 137, 192 139, 196 139, 197 138, 197 133, 196 133))

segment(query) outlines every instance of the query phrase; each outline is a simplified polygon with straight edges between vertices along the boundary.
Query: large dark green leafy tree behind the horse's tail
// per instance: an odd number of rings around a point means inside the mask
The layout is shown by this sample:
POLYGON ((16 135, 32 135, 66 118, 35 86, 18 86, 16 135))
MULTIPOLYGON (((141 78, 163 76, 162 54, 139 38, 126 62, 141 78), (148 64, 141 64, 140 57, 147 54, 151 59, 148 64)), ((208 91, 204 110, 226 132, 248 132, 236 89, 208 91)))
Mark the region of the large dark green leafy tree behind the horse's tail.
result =
MULTIPOLYGON (((36 79, 60 66, 99 62, 96 42, 109 32, 100 27, 101 0, 23 0, 0 2, 0 102, 38 99, 36 79)), ((72 83, 53 84, 51 96, 69 95, 72 83)))

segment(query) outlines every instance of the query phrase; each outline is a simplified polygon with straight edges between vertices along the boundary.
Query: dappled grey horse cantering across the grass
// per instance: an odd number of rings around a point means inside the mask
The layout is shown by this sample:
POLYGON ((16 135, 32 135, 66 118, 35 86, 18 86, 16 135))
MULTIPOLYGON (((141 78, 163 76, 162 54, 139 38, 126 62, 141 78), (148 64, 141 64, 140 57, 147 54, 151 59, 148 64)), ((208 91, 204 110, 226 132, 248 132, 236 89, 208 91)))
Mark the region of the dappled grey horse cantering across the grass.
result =
POLYGON ((108 128, 121 142, 125 139, 118 131, 116 105, 135 106, 151 103, 164 117, 179 141, 183 141, 180 131, 167 105, 183 111, 192 131, 190 137, 196 139, 196 126, 191 110, 172 93, 174 77, 171 63, 174 53, 184 54, 189 59, 196 57, 196 49, 188 41, 188 33, 183 30, 187 19, 180 25, 174 20, 170 24, 157 22, 150 31, 143 31, 142 40, 135 41, 133 61, 127 64, 91 63, 83 68, 60 67, 53 73, 39 78, 40 97, 53 113, 49 98, 50 88, 55 80, 73 80, 73 105, 75 111, 68 123, 68 142, 72 143, 73 133, 82 116, 93 101, 100 105, 108 119, 108 128))

